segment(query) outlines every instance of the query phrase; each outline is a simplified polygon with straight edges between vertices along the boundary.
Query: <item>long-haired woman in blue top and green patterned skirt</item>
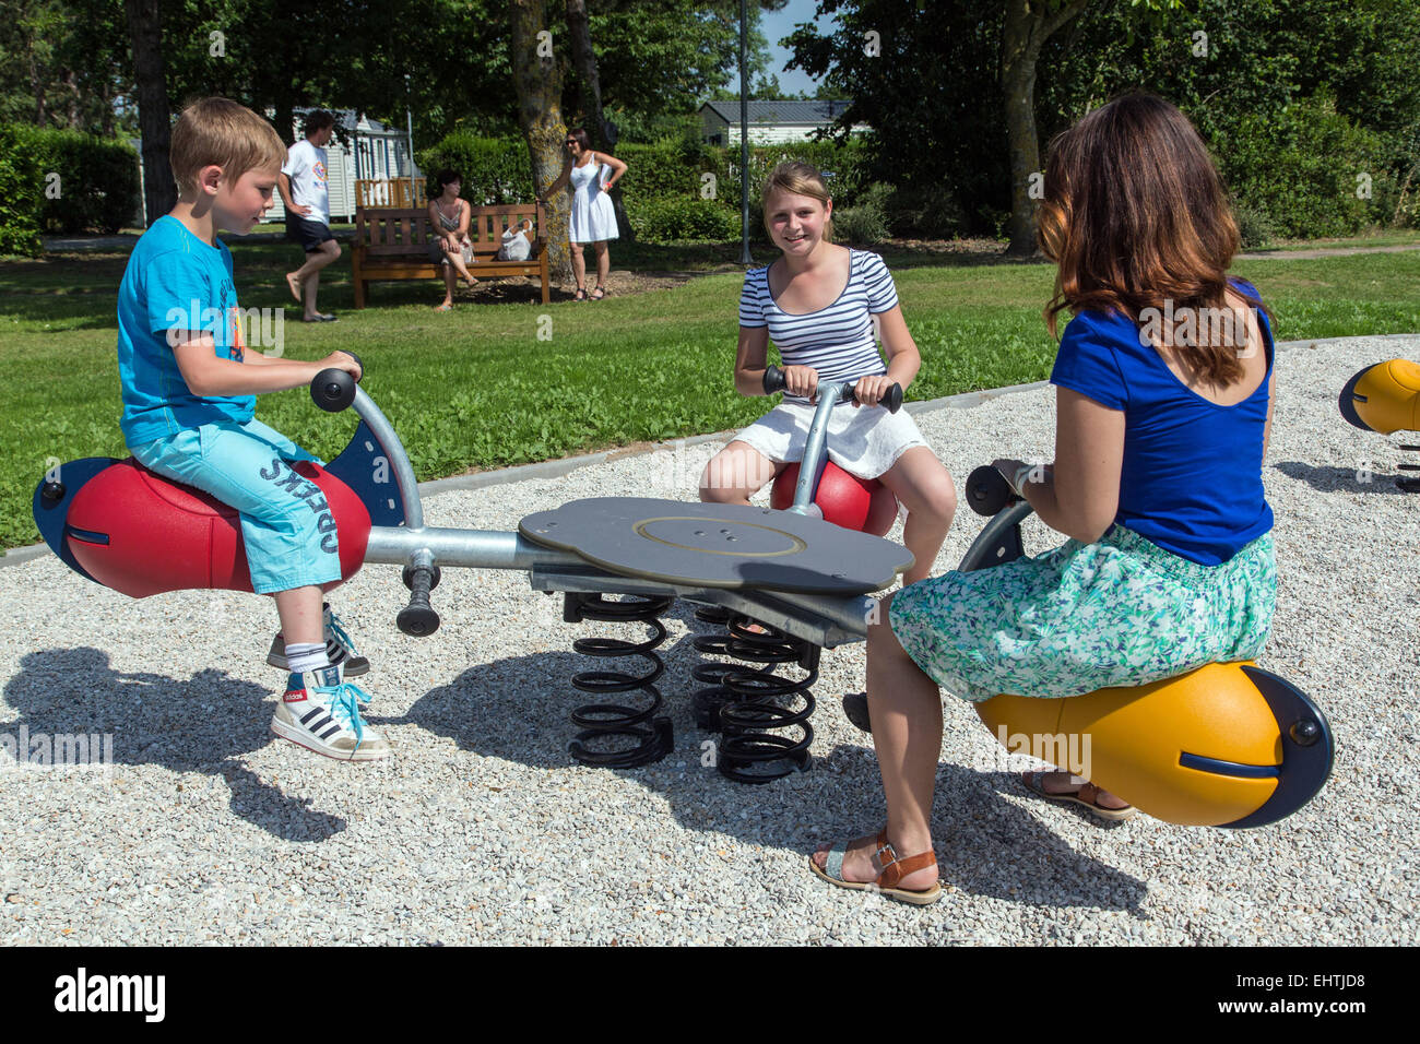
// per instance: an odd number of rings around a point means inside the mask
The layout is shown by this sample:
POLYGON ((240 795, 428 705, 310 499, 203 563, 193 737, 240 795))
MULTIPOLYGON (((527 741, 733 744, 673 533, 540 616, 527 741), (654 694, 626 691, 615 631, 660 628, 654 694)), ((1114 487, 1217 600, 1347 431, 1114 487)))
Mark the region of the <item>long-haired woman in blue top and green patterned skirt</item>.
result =
MULTIPOLYGON (((1039 243, 1059 266, 1047 324, 1054 332, 1062 310, 1074 315, 1051 374, 1055 462, 995 466, 1069 540, 906 588, 869 628, 888 827, 811 858, 838 885, 939 898, 937 686, 967 700, 1078 696, 1251 659, 1267 639, 1272 337, 1257 291, 1225 276, 1237 224, 1189 119, 1132 94, 1062 134, 1039 243)), ((1068 773, 1027 783, 1105 817, 1132 812, 1068 773)))

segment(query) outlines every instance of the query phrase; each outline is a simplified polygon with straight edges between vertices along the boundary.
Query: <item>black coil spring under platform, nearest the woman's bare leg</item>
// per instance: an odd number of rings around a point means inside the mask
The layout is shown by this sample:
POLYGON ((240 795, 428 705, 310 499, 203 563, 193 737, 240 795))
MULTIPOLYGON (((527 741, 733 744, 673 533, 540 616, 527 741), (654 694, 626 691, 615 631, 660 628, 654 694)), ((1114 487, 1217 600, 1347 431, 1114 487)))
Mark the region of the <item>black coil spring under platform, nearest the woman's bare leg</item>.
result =
POLYGON ((724 609, 699 609, 696 618, 727 628, 724 635, 697 636, 696 649, 763 665, 701 663, 690 672, 709 686, 692 697, 696 724, 724 737, 720 773, 737 783, 772 783, 795 770, 808 771, 814 743, 808 719, 815 707, 809 689, 818 680, 819 648, 764 624, 758 625, 764 634, 755 634, 750 629, 755 621, 724 609), (780 663, 798 663, 808 676, 795 682, 777 675, 780 663), (804 697, 801 710, 781 706, 780 700, 794 696, 804 697), (798 739, 770 732, 795 726, 798 739))

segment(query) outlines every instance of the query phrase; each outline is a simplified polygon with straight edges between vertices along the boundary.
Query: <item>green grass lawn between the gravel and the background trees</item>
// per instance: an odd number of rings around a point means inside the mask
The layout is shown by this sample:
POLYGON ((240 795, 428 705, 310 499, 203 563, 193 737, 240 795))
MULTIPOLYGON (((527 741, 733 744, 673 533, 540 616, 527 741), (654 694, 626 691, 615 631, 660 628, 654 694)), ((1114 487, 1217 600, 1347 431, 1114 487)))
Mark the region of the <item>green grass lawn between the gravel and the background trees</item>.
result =
MULTIPOLYGON (((287 244, 234 247, 244 307, 291 304, 280 278, 293 253, 287 244)), ((1054 345, 1041 321, 1049 266, 985 263, 984 251, 883 253, 923 355, 910 398, 1049 374, 1054 345)), ((636 246, 612 256, 618 267, 646 271, 714 270, 731 264, 738 246, 636 246)), ((763 249, 755 256, 768 260, 763 249)), ((125 456, 114 352, 125 261, 85 253, 0 263, 0 547, 38 538, 30 499, 47 462, 125 456)), ((1420 251, 1240 261, 1237 271, 1261 288, 1282 339, 1420 332, 1420 251)), ((341 321, 287 322, 284 351, 358 351, 365 386, 420 479, 721 430, 765 408, 734 395, 730 381, 738 270, 598 304, 462 304, 450 314, 430 310, 439 293, 432 281, 379 284, 378 307, 356 312, 348 276, 342 261, 322 281, 321 307, 341 321)), ((266 396, 258 415, 324 456, 354 428, 349 415, 321 413, 301 391, 266 396)))

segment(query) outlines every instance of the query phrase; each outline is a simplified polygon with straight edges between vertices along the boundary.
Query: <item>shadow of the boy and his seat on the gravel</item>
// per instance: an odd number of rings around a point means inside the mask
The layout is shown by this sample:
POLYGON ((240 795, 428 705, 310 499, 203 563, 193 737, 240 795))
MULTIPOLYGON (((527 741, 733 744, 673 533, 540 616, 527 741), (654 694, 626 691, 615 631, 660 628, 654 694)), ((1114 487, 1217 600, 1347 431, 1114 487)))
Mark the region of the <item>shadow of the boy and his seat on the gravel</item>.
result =
POLYGON ((115 766, 158 764, 222 778, 231 811, 283 841, 322 841, 345 830, 345 820, 312 810, 310 798, 287 797, 241 764, 243 754, 275 741, 267 727, 270 689, 222 670, 200 670, 186 682, 122 673, 106 652, 77 648, 24 656, 4 697, 20 712, 4 732, 18 737, 24 726, 34 750, 57 749, 61 736, 108 733, 115 766))

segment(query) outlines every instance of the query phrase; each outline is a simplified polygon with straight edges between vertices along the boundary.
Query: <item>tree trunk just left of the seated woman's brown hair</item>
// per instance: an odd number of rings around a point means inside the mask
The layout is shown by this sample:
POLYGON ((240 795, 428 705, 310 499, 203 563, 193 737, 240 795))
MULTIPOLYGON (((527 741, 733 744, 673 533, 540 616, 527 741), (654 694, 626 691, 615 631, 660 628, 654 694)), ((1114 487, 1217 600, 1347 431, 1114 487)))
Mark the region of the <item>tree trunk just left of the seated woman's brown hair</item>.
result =
MULTIPOLYGON (((1085 10, 1086 0, 1069 0, 1055 13, 1048 0, 1005 0, 1001 28, 1001 92, 1005 135, 1011 151, 1011 243, 1007 257, 1035 253, 1035 203, 1031 175, 1041 173, 1041 142, 1035 129, 1035 62, 1041 47, 1061 26, 1085 10)), ((1039 182, 1039 179, 1037 179, 1039 182)))

